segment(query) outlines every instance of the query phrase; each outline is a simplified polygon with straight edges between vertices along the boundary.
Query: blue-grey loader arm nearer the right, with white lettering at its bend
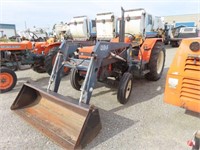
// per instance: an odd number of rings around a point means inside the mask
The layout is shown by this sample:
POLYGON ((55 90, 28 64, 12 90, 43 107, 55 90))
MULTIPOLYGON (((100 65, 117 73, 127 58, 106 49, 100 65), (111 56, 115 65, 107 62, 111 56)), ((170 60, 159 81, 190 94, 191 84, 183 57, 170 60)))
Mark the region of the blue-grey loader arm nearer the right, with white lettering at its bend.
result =
MULTIPOLYGON (((114 57, 116 61, 118 61, 117 59, 123 60, 123 57, 112 55, 112 51, 116 49, 128 49, 130 47, 131 45, 126 43, 98 42, 96 44, 96 46, 93 49, 91 59, 89 61, 85 80, 81 87, 81 96, 79 99, 79 103, 82 102, 85 104, 89 104, 93 89, 97 82, 98 71, 102 66, 102 62, 106 58, 114 57)), ((76 68, 79 70, 84 67, 76 66, 76 68)))

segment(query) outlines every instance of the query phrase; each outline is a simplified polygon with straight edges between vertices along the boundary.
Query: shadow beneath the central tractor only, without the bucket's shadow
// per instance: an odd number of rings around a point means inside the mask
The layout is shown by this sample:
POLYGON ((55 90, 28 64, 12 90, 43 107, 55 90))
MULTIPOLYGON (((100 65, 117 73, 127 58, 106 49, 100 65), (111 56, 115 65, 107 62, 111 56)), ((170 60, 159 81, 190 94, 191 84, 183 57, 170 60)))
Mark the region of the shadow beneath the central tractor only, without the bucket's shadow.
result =
MULTIPOLYGON (((163 70, 163 75, 158 81, 148 81, 144 78, 141 79, 134 79, 133 80, 133 89, 131 92, 131 96, 129 98, 129 101, 125 105, 121 105, 120 107, 116 107, 110 112, 117 112, 118 110, 131 107, 132 105, 135 105, 137 103, 142 103, 145 101, 148 101, 158 95, 161 95, 164 93, 164 87, 165 87, 165 79, 167 75, 168 68, 165 68, 163 70)), ((106 94, 111 92, 113 96, 117 99, 117 87, 119 86, 118 83, 114 83, 114 81, 109 81, 109 84, 98 84, 96 88, 101 88, 102 86, 109 87, 109 90, 106 91, 100 91, 98 93, 95 93, 92 95, 92 97, 97 97, 102 94, 106 94), (113 82, 113 83, 111 83, 113 82)))

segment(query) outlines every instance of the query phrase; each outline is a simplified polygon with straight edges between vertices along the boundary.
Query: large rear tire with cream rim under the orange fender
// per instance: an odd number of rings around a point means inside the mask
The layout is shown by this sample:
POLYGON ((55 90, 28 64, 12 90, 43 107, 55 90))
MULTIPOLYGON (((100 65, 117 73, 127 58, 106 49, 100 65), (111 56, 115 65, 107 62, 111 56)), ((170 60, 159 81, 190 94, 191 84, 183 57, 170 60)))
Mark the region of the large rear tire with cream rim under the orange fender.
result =
POLYGON ((165 48, 162 42, 156 42, 151 52, 151 57, 148 64, 149 73, 145 78, 150 81, 157 81, 160 79, 165 64, 165 48))

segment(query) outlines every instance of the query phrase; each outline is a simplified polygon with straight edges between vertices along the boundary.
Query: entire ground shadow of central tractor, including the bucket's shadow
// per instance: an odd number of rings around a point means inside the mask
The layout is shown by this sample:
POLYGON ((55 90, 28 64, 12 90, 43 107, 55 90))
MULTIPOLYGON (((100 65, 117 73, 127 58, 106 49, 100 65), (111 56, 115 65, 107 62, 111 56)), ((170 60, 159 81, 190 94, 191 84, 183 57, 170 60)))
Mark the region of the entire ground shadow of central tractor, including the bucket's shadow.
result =
MULTIPOLYGON (((130 120, 128 118, 117 115, 116 112, 121 109, 131 107, 132 105, 135 105, 137 103, 148 101, 158 95, 163 94, 167 71, 168 68, 165 68, 163 70, 163 75, 161 79, 156 82, 148 81, 146 79, 134 79, 133 81, 134 87, 132 89, 130 100, 128 101, 127 104, 120 105, 119 107, 113 108, 109 111, 100 108, 99 109, 100 115, 103 116, 101 117, 102 130, 100 134, 97 136, 97 138, 95 138, 95 140, 91 142, 91 144, 89 144, 88 147, 86 147, 86 149, 94 148, 97 145, 111 139, 115 135, 120 134, 120 132, 128 129, 130 126, 138 123, 139 122, 138 120, 135 121, 130 120), (110 119, 110 118, 115 118, 115 119, 110 119)), ((117 83, 115 84, 110 83, 106 85, 98 84, 97 88, 100 88, 102 86, 110 87, 110 90, 101 91, 99 93, 92 95, 92 97, 97 97, 99 95, 112 92, 112 95, 115 96, 117 99, 117 87, 118 87, 117 83)))

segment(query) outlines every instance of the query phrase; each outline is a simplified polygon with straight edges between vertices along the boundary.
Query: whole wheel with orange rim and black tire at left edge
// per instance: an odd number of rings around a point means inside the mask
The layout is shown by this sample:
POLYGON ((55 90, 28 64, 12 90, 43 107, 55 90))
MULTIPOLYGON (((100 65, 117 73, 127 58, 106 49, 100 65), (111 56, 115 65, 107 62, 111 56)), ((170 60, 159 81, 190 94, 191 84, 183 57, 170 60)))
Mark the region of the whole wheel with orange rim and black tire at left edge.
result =
POLYGON ((15 72, 9 68, 0 68, 0 93, 12 90, 17 83, 15 72))

